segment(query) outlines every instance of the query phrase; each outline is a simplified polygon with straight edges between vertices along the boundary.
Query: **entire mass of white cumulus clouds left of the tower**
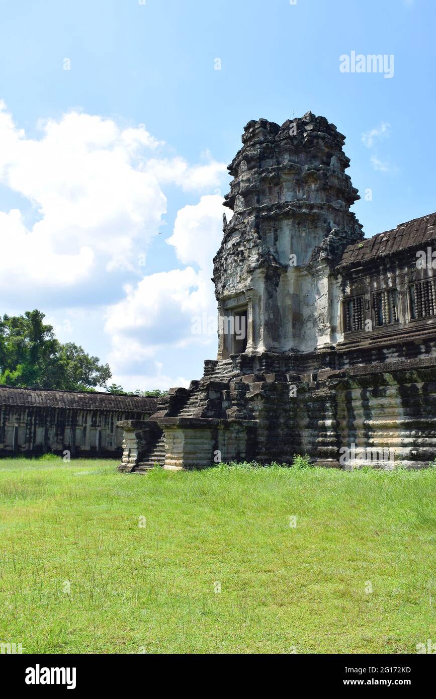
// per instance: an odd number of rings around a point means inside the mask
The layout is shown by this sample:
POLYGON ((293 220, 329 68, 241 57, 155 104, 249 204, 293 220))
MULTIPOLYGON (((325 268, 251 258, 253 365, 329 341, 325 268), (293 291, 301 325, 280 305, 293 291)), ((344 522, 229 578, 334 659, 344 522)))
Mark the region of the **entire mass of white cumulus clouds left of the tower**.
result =
POLYGON ((208 192, 223 184, 226 166, 208 152, 194 165, 168 158, 166 143, 143 124, 122 128, 78 111, 41 120, 38 129, 38 137, 28 136, 0 102, 0 185, 29 203, 20 210, 15 197, 14 208, 0 211, 5 310, 38 305, 50 317, 57 308, 54 318, 69 338, 65 318, 75 309, 75 337, 86 347, 80 313, 94 305, 104 314, 110 353, 103 359, 115 381, 127 389, 185 385, 180 369, 170 378, 171 362, 164 368, 159 353, 212 341, 191 329, 193 318, 216 314, 210 277, 224 209, 221 195, 208 192), (167 185, 207 194, 177 212, 167 242, 180 266, 140 278, 138 253, 159 232, 167 185))

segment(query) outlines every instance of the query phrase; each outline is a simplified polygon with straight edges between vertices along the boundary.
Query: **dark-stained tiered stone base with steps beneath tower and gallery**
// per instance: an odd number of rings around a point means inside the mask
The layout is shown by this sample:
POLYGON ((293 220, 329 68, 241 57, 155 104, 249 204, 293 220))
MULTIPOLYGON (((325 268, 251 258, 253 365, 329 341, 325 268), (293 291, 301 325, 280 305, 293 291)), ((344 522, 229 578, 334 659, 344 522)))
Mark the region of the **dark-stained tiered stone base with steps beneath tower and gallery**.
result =
POLYGON ((291 463, 294 454, 335 468, 422 468, 436 457, 433 356, 309 372, 293 354, 234 359, 225 380, 209 362, 208 375, 171 389, 149 421, 123 423, 120 470, 133 470, 161 431, 163 468, 174 470, 291 463))

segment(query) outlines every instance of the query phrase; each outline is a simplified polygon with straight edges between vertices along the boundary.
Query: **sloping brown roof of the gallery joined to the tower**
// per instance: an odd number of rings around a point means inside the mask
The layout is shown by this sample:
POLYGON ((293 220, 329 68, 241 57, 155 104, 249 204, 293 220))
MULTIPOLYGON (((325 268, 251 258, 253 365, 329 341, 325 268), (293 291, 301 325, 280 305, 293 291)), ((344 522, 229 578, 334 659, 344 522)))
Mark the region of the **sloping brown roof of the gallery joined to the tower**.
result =
POLYGON ((349 245, 345 248, 338 266, 354 266, 356 263, 365 263, 375 257, 386 257, 409 247, 426 247, 435 238, 436 213, 433 213, 398 224, 391 231, 377 233, 377 236, 349 245))

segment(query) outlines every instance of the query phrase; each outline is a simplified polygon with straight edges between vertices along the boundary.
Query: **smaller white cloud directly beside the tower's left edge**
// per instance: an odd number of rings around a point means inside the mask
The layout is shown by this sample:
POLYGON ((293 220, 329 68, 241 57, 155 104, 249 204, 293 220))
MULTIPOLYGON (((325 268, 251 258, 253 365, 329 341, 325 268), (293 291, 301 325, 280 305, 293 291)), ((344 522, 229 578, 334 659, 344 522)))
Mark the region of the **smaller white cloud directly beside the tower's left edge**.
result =
POLYGON ((164 347, 177 352, 203 344, 215 352, 216 336, 198 335, 193 328, 196 317, 213 319, 217 314, 210 277, 212 257, 221 243, 223 212, 222 199, 216 194, 180 209, 167 242, 175 247, 182 264, 195 264, 198 271, 187 266, 147 275, 136 286, 126 287, 124 300, 108 308, 105 329, 112 337, 109 363, 117 376, 139 375, 141 367, 146 374, 150 359, 164 347))

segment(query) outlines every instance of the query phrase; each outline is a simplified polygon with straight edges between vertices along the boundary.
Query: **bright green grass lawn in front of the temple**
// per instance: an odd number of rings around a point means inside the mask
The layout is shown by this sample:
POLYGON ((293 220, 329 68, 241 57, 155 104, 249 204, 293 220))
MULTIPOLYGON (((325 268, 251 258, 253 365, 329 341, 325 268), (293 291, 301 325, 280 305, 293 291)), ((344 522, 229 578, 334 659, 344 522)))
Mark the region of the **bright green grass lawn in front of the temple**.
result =
POLYGON ((435 491, 434 468, 122 475, 3 459, 0 642, 414 653, 436 642, 435 491))

